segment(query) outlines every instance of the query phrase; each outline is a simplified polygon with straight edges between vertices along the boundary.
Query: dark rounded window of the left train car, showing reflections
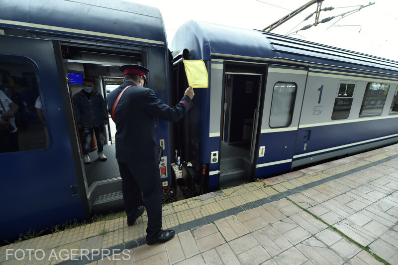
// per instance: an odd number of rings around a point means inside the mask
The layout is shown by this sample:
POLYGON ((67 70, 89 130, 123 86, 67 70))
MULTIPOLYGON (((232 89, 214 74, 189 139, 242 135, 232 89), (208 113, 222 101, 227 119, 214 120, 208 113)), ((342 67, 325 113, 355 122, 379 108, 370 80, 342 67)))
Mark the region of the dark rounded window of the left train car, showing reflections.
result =
POLYGON ((50 141, 34 66, 26 59, 0 57, 0 76, 0 123, 12 126, 0 131, 0 153, 46 148, 50 141))

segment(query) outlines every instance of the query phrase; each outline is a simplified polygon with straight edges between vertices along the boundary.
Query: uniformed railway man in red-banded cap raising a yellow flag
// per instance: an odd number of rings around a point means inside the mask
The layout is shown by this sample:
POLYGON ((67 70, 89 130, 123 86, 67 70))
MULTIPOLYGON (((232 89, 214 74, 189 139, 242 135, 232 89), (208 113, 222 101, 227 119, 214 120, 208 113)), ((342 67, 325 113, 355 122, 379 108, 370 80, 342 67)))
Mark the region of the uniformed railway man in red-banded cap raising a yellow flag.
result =
POLYGON ((116 159, 122 178, 124 208, 127 225, 145 210, 148 214, 146 242, 148 245, 169 241, 173 230, 162 230, 162 184, 155 143, 156 118, 177 122, 194 106, 194 91, 187 88, 184 97, 175 107, 162 103, 152 89, 145 88, 148 69, 140 65, 123 65, 124 83, 113 90, 107 99, 111 113, 116 98, 127 86, 114 112, 116 124, 116 159))

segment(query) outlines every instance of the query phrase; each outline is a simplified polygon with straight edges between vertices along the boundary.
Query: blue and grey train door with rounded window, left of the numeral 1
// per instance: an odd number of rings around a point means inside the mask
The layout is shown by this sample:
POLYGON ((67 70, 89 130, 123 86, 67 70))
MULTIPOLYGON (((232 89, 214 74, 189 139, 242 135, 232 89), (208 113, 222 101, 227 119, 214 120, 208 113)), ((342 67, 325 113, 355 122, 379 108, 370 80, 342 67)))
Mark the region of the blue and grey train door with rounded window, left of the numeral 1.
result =
MULTIPOLYGON (((268 67, 256 177, 291 169, 307 73, 304 68, 268 67)), ((304 142, 309 137, 308 132, 304 142)))

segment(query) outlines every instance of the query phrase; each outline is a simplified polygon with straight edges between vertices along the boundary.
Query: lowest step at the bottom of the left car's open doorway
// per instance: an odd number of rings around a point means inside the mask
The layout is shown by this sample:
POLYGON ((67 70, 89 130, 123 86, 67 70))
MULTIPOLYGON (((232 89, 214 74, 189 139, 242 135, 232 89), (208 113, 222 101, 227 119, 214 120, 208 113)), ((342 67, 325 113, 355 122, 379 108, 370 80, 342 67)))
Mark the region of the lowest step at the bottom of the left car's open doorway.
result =
POLYGON ((103 194, 93 203, 94 213, 108 213, 123 211, 123 194, 121 191, 103 194))

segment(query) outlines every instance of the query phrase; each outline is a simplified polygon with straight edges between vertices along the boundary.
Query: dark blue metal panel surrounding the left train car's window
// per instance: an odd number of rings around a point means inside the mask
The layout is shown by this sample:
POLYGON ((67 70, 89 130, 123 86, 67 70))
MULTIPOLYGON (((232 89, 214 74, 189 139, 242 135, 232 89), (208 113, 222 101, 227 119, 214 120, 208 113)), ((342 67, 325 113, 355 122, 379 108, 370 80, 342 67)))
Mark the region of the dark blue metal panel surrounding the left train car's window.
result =
POLYGON ((52 42, 0 35, 0 54, 24 58, 35 67, 51 141, 43 150, 0 154, 1 164, 7 165, 1 169, 4 240, 30 228, 83 220, 85 214, 82 197, 72 197, 69 189, 78 185, 78 176, 52 42))

